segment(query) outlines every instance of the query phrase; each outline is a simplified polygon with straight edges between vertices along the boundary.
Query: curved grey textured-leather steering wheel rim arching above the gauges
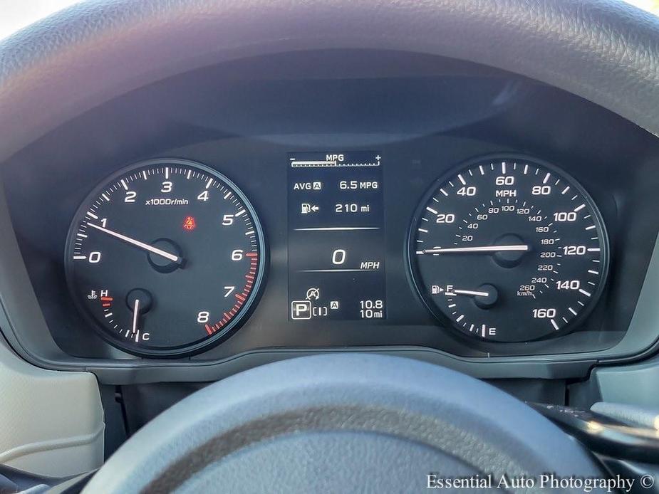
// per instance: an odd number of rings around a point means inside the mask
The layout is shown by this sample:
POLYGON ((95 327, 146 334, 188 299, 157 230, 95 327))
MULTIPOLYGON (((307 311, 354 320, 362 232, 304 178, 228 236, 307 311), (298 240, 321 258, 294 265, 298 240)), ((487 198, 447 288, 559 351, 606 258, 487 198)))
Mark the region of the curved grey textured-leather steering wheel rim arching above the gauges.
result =
POLYGON ((0 161, 142 85, 209 63, 321 48, 492 65, 659 134, 659 19, 620 0, 91 0, 0 44, 0 161))

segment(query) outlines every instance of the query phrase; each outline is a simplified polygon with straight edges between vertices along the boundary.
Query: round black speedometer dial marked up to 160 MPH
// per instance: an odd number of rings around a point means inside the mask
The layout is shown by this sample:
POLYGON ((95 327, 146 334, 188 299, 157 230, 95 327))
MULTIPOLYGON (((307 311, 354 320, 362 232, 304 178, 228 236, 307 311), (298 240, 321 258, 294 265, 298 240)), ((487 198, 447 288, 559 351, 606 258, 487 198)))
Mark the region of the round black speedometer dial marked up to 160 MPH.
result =
POLYGON ((409 242, 412 278, 433 314, 499 342, 574 327, 596 304, 608 268, 590 196, 524 158, 479 159, 438 181, 409 242))

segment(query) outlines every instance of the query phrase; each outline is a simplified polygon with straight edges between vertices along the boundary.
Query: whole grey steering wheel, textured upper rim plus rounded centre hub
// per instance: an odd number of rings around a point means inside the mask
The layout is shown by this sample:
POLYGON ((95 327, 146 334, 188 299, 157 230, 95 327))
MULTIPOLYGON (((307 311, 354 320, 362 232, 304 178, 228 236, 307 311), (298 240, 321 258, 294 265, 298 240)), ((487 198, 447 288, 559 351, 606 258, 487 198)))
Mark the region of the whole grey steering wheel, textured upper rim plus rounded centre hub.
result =
MULTIPOLYGON (((492 65, 659 135, 659 21, 619 0, 88 1, 0 46, 0 162, 142 85, 327 48, 492 65)), ((87 490, 407 491, 449 473, 550 471, 598 475, 581 446, 487 384, 406 359, 331 354, 197 392, 130 438, 87 490)))

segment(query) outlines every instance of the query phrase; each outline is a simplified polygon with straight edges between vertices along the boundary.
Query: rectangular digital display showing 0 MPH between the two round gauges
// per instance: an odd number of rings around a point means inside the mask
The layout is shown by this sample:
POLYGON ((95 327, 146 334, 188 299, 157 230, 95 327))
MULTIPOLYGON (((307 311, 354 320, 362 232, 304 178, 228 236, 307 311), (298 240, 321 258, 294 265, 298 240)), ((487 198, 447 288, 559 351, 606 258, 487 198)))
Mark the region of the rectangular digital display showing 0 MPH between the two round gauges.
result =
POLYGON ((289 317, 384 319, 382 157, 289 153, 289 317))

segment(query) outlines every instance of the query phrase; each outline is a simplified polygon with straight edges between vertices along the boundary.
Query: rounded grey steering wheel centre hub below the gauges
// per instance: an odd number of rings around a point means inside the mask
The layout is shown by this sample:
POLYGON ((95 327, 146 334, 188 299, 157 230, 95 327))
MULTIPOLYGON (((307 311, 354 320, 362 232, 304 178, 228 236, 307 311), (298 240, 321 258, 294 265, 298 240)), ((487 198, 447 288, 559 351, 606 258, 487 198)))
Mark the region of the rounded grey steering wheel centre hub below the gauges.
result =
POLYGON ((489 384, 412 359, 325 354, 197 391, 121 446, 85 492, 410 492, 431 473, 547 472, 602 475, 574 439, 489 384))

